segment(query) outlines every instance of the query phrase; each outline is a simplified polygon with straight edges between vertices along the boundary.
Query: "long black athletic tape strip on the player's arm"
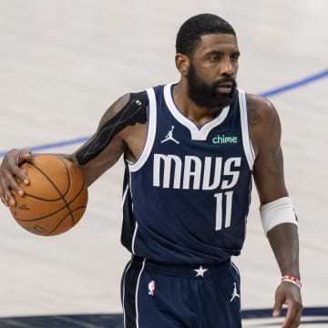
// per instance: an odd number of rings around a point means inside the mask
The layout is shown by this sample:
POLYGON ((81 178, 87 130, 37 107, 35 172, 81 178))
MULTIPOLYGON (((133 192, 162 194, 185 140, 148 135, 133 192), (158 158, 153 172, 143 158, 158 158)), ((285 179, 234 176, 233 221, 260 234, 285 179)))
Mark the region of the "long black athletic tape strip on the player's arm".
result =
POLYGON ((80 165, 97 157, 122 129, 136 123, 147 122, 148 97, 146 91, 130 94, 128 104, 110 118, 98 131, 93 140, 78 150, 76 158, 80 165))

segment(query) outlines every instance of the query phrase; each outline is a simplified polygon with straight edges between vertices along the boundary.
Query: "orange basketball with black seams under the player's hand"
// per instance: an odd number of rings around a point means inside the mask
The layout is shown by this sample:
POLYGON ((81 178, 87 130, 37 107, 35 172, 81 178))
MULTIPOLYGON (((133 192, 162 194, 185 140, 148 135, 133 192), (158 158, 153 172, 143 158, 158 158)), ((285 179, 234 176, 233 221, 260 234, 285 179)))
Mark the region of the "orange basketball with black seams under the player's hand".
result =
POLYGON ((71 161, 57 155, 39 155, 21 165, 29 185, 21 183, 23 197, 14 193, 11 213, 26 231, 55 236, 74 227, 87 208, 87 185, 71 161))

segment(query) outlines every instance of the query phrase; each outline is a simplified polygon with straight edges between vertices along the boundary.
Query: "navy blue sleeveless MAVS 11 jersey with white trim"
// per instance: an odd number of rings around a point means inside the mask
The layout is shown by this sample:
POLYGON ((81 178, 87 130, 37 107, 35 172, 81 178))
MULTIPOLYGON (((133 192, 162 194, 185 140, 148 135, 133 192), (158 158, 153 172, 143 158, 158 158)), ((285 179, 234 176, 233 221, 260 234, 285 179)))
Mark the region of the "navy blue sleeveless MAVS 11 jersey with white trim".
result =
POLYGON ((215 263, 238 255, 251 197, 253 150, 246 95, 197 127, 175 106, 172 85, 149 88, 147 140, 126 163, 121 241, 169 263, 215 263))

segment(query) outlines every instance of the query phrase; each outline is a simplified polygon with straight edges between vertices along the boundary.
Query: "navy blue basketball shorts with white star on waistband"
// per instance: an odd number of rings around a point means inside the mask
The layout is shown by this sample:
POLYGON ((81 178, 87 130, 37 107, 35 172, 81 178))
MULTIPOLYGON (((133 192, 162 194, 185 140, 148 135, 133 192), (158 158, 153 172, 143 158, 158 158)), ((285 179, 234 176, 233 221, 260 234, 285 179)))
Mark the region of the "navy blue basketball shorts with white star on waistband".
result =
POLYGON ((125 328, 240 328, 240 274, 231 261, 172 265, 133 256, 121 297, 125 328))

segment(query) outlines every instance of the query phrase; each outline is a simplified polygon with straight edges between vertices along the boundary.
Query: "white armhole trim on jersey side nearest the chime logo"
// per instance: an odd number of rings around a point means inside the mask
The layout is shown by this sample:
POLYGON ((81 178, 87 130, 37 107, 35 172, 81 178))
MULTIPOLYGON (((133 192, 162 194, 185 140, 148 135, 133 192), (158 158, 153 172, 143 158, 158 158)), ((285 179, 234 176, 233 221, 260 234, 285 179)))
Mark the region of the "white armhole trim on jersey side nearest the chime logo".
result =
POLYGON ((242 145, 246 155, 247 162, 252 170, 255 159, 255 152, 251 145, 251 137, 249 131, 249 121, 247 115, 247 100, 245 91, 238 89, 239 103, 241 109, 241 133, 242 145))

